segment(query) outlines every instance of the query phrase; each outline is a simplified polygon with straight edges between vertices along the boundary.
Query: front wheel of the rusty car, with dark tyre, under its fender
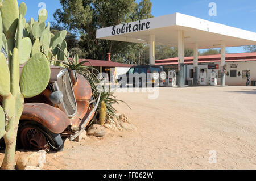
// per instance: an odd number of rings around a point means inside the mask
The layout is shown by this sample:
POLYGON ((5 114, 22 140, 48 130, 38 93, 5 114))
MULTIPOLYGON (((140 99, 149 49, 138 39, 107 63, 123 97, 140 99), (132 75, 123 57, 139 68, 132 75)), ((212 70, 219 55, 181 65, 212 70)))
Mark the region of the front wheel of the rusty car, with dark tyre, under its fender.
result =
POLYGON ((63 151, 64 148, 60 134, 52 133, 43 125, 31 121, 20 123, 18 141, 24 149, 33 151, 63 151))

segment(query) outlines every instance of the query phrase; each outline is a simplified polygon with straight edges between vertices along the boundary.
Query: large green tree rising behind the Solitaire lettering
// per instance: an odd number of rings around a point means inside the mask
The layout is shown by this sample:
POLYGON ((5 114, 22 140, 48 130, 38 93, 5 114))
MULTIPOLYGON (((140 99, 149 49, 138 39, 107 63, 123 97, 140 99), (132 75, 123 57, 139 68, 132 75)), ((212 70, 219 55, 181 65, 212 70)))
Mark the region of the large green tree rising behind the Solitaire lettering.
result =
POLYGON ((85 58, 106 60, 107 53, 112 53, 112 61, 135 61, 134 49, 142 49, 139 44, 121 41, 96 39, 99 28, 116 24, 133 22, 139 19, 152 18, 150 0, 60 0, 62 10, 57 9, 54 18, 63 23, 68 30, 80 33, 79 47, 85 52, 85 58), (127 58, 128 57, 128 58, 127 58))

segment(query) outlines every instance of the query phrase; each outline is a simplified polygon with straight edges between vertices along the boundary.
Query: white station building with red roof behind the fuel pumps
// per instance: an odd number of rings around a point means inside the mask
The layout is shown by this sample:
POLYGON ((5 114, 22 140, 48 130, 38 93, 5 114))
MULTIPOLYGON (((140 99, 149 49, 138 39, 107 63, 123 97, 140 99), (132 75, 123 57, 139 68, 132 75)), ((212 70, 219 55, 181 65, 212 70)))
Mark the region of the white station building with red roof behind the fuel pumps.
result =
MULTIPOLYGON (((184 85, 194 85, 193 64, 194 57, 184 58, 184 85)), ((221 54, 198 57, 197 78, 200 79, 200 72, 207 73, 207 85, 210 85, 210 73, 217 73, 217 83, 221 85, 221 54)), ((155 65, 163 66, 163 69, 176 70, 178 72, 178 58, 168 58, 166 60, 156 60, 155 65)), ((250 72, 251 86, 255 86, 256 81, 256 52, 255 53, 233 53, 226 54, 225 83, 228 86, 245 86, 246 72, 250 72)), ((179 76, 179 75, 177 75, 179 76)), ((197 81, 200 82, 200 81, 197 81)))

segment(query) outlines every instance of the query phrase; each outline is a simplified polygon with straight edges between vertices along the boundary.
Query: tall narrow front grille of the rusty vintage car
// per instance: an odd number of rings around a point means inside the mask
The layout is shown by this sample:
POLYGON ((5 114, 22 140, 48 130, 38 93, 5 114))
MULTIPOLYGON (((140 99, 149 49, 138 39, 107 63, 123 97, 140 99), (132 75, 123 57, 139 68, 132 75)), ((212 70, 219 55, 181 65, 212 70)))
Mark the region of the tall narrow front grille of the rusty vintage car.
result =
POLYGON ((73 91, 73 84, 67 69, 60 71, 54 87, 55 91, 63 92, 63 102, 59 106, 60 110, 67 113, 69 118, 75 116, 77 113, 77 103, 73 91))

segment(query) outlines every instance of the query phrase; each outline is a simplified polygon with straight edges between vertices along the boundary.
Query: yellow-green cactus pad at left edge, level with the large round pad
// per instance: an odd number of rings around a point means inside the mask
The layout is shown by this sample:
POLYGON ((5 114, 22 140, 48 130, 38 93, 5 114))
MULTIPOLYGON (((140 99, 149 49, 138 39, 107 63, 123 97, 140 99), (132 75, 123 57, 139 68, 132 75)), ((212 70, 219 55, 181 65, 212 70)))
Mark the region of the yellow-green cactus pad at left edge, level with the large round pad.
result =
POLYGON ((10 91, 10 71, 5 56, 0 53, 0 95, 3 97, 8 96, 11 93, 10 91))

